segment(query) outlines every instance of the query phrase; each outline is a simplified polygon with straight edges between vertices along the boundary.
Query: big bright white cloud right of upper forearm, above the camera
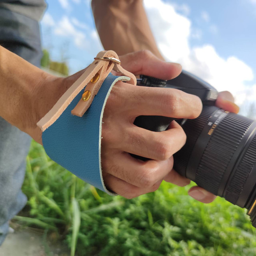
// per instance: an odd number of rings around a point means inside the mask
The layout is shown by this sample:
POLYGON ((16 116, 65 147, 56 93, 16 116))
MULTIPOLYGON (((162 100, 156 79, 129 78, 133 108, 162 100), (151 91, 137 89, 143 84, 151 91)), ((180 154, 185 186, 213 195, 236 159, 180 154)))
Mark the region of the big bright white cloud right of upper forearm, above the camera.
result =
MULTIPOLYGON (((229 90, 244 101, 248 86, 253 79, 252 69, 235 56, 223 58, 212 45, 191 47, 193 35, 191 21, 177 14, 175 8, 161 0, 144 0, 146 12, 162 55, 169 61, 183 65, 184 70, 210 83, 217 90, 229 90)), ((256 90, 256 87, 255 87, 256 90)), ((256 93, 251 96, 256 100, 256 93)))

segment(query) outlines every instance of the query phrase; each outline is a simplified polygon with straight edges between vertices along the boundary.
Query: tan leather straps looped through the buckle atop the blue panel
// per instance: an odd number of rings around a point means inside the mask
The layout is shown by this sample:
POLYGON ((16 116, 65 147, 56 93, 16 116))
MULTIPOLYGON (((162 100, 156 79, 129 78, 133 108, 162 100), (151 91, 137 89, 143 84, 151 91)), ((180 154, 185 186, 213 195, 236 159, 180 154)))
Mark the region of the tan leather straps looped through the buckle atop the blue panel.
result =
MULTIPOLYGON (((97 57, 112 57, 118 59, 118 55, 112 50, 101 51, 99 54, 97 54, 97 57)), ((83 75, 80 76, 79 79, 77 79, 76 82, 73 83, 72 86, 61 96, 53 108, 51 108, 51 110, 37 123, 37 126, 39 126, 42 131, 46 130, 59 118, 72 100, 77 96, 77 94, 79 94, 84 87, 89 85, 87 88, 91 88, 92 90, 90 99, 88 101, 82 100, 83 104, 80 103, 80 100, 78 105, 72 110, 73 115, 82 116, 90 107, 94 96, 97 94, 101 84, 112 69, 130 77, 130 81, 127 81, 127 83, 136 85, 136 77, 132 73, 123 69, 119 64, 113 64, 113 62, 109 63, 109 61, 104 60, 95 60, 90 66, 88 66, 83 75), (99 80, 94 84, 89 83, 97 72, 100 73, 99 80)))

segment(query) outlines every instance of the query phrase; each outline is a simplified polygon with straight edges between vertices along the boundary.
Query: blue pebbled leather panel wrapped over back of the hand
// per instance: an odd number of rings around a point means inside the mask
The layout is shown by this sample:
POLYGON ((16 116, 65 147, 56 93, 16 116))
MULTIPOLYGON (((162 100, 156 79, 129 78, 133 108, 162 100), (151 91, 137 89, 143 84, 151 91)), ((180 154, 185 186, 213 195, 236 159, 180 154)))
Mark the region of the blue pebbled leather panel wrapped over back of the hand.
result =
POLYGON ((108 95, 117 81, 129 81, 126 76, 109 74, 90 108, 78 117, 71 110, 81 99, 82 90, 42 135, 43 147, 55 162, 93 186, 115 195, 105 187, 101 170, 101 126, 108 95))

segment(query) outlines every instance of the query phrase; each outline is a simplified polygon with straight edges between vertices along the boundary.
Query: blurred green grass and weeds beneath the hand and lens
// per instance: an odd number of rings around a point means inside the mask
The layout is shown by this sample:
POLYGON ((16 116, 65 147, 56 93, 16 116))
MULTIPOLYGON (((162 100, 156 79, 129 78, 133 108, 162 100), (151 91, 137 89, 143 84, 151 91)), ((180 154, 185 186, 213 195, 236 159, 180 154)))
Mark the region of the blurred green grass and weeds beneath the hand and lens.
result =
POLYGON ((245 210, 223 198, 196 202, 189 187, 163 182, 132 200, 111 197, 32 142, 23 185, 28 203, 16 220, 63 240, 72 256, 255 256, 256 230, 245 210))

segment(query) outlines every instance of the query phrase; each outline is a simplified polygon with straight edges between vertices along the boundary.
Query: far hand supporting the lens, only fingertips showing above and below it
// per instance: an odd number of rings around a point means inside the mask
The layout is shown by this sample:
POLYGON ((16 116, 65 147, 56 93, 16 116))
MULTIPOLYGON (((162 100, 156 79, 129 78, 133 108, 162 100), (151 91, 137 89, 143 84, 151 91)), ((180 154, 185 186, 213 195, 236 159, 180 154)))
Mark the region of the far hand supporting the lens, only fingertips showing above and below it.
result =
MULTIPOLYGON (((239 107, 234 104, 234 97, 228 91, 223 91, 218 94, 216 106, 236 114, 239 112, 239 107)), ((204 188, 198 186, 191 187, 188 191, 188 195, 203 203, 213 202, 216 198, 216 195, 213 195, 204 188)))

